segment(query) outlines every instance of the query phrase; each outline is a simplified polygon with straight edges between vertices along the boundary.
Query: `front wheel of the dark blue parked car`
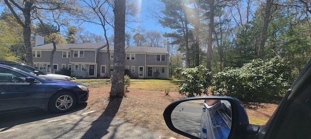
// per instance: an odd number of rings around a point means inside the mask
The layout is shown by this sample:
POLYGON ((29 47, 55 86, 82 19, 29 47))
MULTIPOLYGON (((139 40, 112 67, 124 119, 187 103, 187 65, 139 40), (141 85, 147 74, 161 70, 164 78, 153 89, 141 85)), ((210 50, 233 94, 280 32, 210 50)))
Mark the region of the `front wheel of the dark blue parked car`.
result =
POLYGON ((76 97, 71 92, 59 92, 51 97, 49 108, 55 113, 67 112, 75 107, 76 102, 76 97))

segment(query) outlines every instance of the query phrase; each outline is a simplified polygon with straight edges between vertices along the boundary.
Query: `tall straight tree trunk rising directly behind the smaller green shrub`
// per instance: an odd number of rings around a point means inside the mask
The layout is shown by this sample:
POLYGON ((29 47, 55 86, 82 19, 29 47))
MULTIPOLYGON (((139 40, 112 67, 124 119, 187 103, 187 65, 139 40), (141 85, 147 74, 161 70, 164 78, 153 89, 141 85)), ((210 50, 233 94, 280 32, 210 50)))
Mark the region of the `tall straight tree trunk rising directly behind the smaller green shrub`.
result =
MULTIPOLYGON (((214 0, 209 0, 209 25, 208 25, 208 42, 207 42, 207 55, 206 55, 206 68, 211 71, 210 61, 212 56, 212 43, 213 43, 213 26, 214 26, 214 0)), ((210 83, 210 78, 207 78, 210 83)))

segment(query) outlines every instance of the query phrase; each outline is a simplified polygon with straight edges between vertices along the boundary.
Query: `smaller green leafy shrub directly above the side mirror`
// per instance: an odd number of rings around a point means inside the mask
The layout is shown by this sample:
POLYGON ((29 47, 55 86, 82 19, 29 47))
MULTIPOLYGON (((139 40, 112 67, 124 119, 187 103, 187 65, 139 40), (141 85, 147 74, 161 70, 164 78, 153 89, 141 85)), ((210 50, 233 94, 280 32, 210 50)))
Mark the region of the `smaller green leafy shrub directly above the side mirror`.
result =
POLYGON ((177 68, 175 72, 186 79, 185 83, 179 85, 179 94, 187 97, 207 95, 209 83, 206 79, 210 77, 210 71, 203 65, 189 69, 177 68))

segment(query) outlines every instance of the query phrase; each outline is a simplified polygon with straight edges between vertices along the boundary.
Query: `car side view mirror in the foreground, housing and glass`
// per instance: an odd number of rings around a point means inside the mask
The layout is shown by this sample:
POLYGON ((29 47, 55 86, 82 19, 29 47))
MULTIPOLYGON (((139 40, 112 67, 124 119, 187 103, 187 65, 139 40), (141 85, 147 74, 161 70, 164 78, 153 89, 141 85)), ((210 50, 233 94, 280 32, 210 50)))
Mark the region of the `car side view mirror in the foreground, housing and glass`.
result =
POLYGON ((242 102, 234 97, 189 97, 167 106, 166 125, 191 139, 237 139, 256 135, 258 125, 249 125, 242 102))

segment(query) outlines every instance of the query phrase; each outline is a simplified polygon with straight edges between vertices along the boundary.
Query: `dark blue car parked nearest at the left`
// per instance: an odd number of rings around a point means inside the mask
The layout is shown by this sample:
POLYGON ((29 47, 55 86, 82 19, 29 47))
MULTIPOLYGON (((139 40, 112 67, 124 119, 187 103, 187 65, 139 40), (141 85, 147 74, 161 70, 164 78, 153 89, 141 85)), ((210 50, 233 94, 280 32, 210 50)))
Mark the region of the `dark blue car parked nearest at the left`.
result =
POLYGON ((46 80, 2 64, 0 86, 0 113, 34 108, 67 112, 88 98, 83 84, 46 80))

